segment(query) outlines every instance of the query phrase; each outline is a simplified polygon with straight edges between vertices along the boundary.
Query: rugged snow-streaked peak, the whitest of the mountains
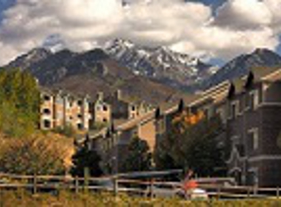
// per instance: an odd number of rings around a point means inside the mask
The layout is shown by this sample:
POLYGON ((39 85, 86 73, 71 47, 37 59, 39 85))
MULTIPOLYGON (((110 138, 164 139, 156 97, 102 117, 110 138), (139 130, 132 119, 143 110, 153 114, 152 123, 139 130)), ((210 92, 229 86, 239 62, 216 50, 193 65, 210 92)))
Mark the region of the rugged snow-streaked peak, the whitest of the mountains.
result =
POLYGON ((141 47, 121 39, 109 42, 105 51, 134 74, 176 88, 186 89, 210 77, 217 70, 196 57, 173 52, 166 47, 141 47))

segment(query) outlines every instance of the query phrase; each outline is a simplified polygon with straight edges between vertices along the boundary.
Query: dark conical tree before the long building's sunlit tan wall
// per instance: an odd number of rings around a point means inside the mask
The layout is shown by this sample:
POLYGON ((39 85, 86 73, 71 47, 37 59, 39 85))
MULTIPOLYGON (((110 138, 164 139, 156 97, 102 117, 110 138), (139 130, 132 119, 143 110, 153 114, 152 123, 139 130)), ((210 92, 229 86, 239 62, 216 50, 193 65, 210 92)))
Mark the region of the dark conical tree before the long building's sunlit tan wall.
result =
POLYGON ((149 152, 148 143, 134 137, 128 145, 127 157, 122 165, 122 171, 146 171, 152 167, 152 154, 149 152))

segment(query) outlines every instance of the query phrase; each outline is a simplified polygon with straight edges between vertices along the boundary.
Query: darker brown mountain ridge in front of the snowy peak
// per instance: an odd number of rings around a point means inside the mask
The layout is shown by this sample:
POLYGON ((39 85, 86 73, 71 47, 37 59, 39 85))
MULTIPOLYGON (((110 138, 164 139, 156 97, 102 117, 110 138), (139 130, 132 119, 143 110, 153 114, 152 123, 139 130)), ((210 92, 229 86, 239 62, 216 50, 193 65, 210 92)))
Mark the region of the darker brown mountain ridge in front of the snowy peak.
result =
POLYGON ((31 72, 43 86, 87 93, 91 97, 96 97, 99 91, 106 95, 121 89, 133 100, 160 104, 178 102, 183 95, 162 83, 135 75, 101 49, 82 53, 34 49, 3 68, 15 67, 31 72))

